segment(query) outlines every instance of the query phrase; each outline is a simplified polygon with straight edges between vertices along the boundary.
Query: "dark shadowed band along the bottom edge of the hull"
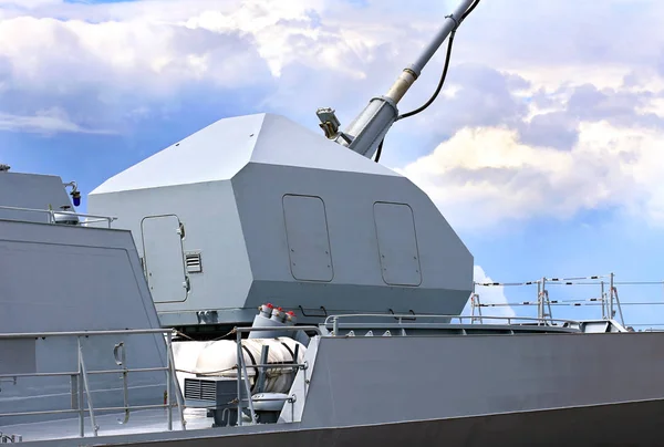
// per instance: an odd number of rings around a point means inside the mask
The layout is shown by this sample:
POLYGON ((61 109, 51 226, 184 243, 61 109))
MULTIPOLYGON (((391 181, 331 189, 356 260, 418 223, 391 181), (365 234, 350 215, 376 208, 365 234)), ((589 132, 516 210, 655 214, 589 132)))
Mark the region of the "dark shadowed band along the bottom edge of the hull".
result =
MULTIPOLYGON (((203 435, 141 444, 163 447, 660 446, 662 420, 664 401, 649 401, 375 426, 203 435)), ((125 438, 105 445, 127 444, 133 443, 125 438)))

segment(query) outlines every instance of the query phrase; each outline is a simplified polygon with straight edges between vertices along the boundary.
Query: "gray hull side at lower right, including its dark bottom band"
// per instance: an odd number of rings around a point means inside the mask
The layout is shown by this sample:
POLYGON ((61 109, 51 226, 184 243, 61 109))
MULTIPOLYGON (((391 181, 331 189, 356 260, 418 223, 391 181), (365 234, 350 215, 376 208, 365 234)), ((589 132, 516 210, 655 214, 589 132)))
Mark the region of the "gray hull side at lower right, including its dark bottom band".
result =
POLYGON ((660 333, 323 337, 312 345, 301 423, 89 444, 658 445, 664 365, 653 353, 663 346, 660 333), (613 349, 625 353, 622 367, 613 349))

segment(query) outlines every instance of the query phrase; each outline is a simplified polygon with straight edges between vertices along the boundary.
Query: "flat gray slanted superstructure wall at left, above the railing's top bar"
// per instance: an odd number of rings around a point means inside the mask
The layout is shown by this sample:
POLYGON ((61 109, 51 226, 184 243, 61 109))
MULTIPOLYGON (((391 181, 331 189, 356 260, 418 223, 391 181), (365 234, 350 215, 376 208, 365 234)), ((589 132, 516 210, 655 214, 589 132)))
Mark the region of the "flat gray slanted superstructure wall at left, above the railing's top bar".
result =
POLYGON ((128 231, 0 220, 3 332, 158 328, 128 231))

